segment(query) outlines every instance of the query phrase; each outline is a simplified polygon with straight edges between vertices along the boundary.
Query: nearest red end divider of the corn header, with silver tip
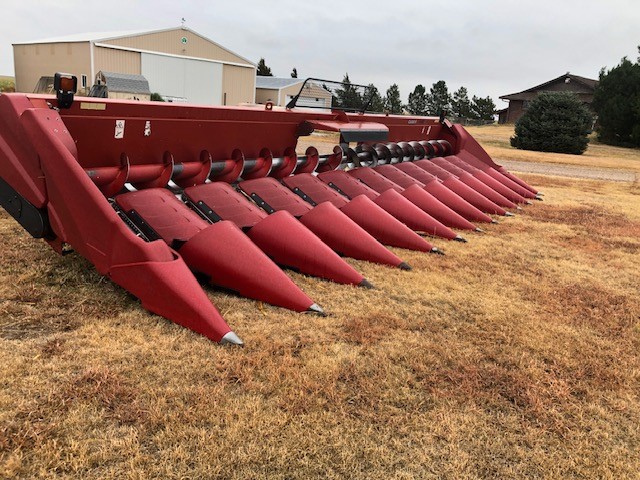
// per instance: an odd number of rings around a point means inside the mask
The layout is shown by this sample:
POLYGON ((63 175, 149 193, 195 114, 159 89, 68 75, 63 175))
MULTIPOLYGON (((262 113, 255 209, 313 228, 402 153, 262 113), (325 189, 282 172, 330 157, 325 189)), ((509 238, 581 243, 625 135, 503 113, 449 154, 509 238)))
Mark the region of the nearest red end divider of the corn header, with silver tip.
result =
POLYGON ((27 110, 22 120, 40 158, 58 241, 71 244, 148 310, 216 342, 235 337, 180 256, 162 242, 144 242, 120 220, 68 150, 73 141, 58 114, 27 110))

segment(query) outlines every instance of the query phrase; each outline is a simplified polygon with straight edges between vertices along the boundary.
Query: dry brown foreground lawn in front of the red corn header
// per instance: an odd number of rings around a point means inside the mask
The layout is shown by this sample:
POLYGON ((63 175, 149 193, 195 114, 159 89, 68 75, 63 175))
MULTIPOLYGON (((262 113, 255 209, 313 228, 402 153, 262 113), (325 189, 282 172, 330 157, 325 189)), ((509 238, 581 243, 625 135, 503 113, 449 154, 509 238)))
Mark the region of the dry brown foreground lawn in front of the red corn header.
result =
POLYGON ((444 257, 349 260, 376 290, 292 273, 326 318, 208 290, 243 349, 0 212, 0 477, 638 478, 640 186, 522 176, 444 257))

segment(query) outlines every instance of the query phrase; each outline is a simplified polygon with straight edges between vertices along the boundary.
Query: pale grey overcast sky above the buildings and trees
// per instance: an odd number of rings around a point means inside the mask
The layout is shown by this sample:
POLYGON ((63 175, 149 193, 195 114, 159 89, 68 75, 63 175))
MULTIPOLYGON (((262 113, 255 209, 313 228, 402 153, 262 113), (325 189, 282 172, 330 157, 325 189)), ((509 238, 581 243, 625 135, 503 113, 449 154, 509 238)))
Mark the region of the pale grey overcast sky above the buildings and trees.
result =
POLYGON ((18 0, 0 8, 0 75, 13 42, 180 25, 274 75, 397 83, 403 101, 445 80, 469 96, 513 93, 570 71, 597 78, 638 57, 639 0, 18 0))

